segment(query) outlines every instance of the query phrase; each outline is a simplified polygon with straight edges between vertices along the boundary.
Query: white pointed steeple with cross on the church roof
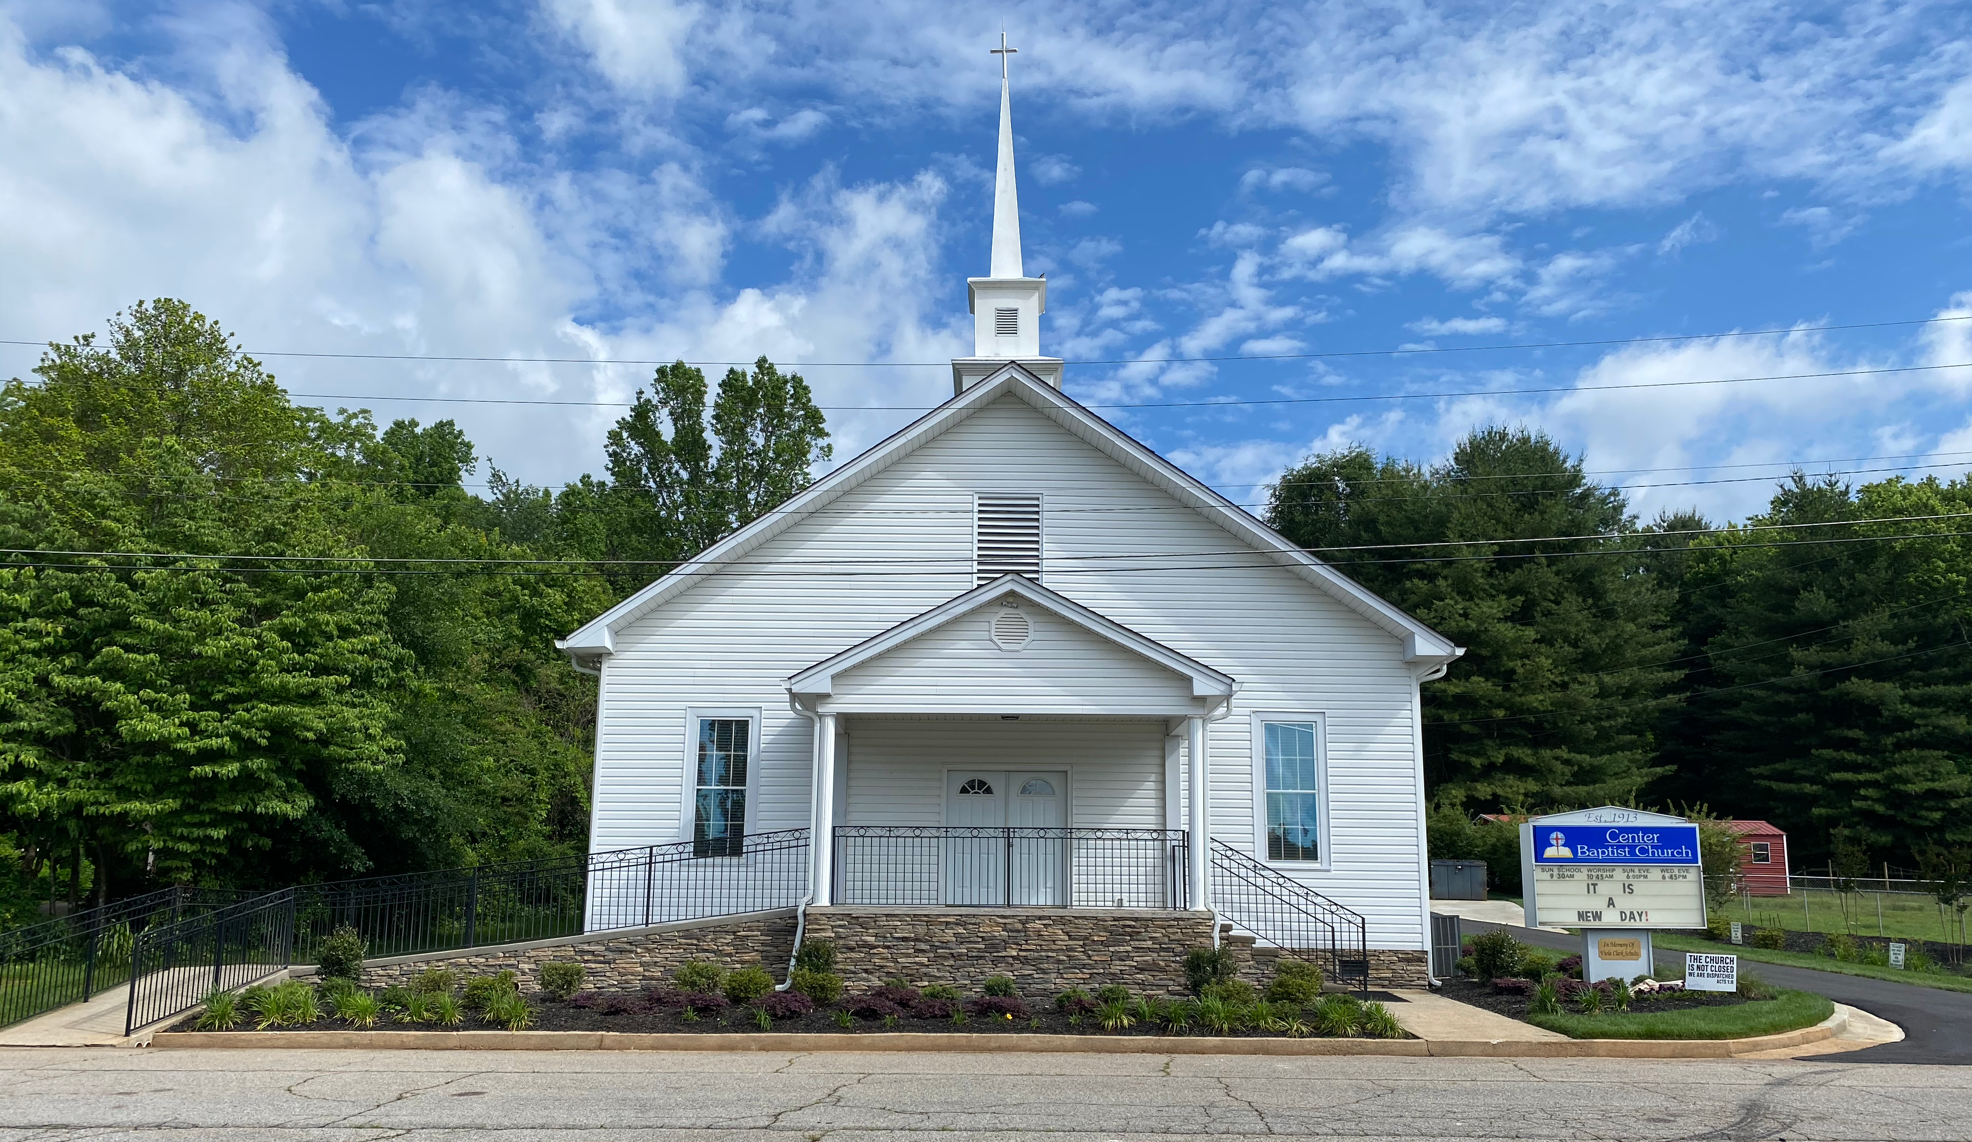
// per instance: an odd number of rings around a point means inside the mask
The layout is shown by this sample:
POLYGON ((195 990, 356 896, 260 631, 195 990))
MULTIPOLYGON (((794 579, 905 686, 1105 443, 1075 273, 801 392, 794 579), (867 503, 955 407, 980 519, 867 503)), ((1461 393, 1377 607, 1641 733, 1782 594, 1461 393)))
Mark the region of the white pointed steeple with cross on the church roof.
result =
POLYGON ((1020 195, 1014 185, 1014 99, 1008 91, 1010 55, 1000 34, 1000 164, 992 187, 992 268, 986 278, 966 278, 972 310, 972 357, 952 361, 952 391, 964 393, 1008 361, 1061 389, 1061 359, 1041 357, 1041 314, 1047 312, 1047 278, 1029 278, 1020 264, 1020 195))

